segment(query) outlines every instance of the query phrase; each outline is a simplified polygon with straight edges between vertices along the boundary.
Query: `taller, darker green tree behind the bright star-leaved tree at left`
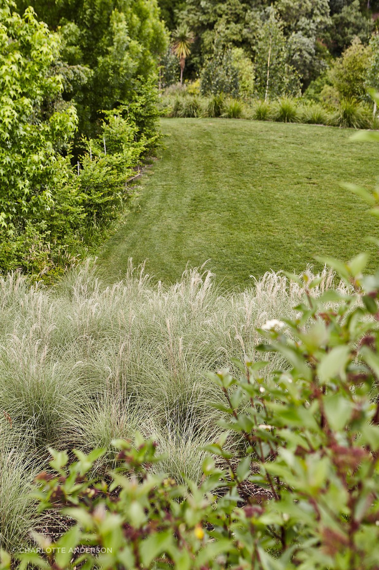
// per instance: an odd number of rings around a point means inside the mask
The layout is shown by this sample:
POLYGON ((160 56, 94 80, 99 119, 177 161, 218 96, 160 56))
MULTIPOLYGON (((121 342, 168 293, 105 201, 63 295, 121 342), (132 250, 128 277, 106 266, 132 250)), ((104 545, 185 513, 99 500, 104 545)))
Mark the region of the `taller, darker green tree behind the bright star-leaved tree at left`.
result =
MULTIPOLYGON (((19 10, 28 3, 18 0, 19 10)), ((155 75, 158 56, 167 48, 158 6, 155 0, 36 0, 34 9, 50 28, 59 28, 64 62, 90 70, 87 82, 67 96, 75 99, 79 133, 94 136, 98 112, 130 103, 141 81, 155 75)))

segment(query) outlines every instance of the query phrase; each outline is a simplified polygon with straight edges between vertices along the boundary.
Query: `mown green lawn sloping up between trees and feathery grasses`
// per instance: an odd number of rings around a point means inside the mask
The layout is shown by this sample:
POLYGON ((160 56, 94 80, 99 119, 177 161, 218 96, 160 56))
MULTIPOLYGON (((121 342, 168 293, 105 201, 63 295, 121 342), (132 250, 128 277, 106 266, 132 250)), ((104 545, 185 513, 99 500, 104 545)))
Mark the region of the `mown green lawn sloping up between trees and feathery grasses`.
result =
POLYGON ((348 260, 377 233, 365 203, 339 186, 372 187, 379 171, 379 146, 353 143, 350 129, 163 119, 162 130, 160 160, 100 253, 110 280, 129 257, 166 282, 210 259, 217 280, 244 287, 270 269, 319 267, 315 255, 348 260))

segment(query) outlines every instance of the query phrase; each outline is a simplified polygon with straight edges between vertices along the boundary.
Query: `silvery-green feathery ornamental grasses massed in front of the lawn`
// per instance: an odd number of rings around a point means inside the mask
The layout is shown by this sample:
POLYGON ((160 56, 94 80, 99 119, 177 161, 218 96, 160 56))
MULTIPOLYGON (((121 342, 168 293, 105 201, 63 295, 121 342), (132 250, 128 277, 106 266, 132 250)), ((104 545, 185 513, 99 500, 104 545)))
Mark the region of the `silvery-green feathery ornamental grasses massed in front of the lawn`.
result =
MULTIPOLYGON (((314 296, 335 285, 331 271, 319 278, 314 296)), ((19 274, 1 278, 0 546, 19 545, 35 524, 28 485, 48 446, 110 449, 138 430, 165 454, 156 469, 199 481, 203 447, 219 437, 223 415, 209 406, 223 394, 206 372, 254 360, 257 328, 294 317, 302 295, 274 272, 226 293, 205 267, 166 287, 131 260, 112 287, 90 262, 50 289, 19 274)), ((281 364, 271 356, 267 374, 281 364)), ((229 449, 236 445, 231 436, 229 449)), ((109 469, 112 457, 95 468, 109 469)))

